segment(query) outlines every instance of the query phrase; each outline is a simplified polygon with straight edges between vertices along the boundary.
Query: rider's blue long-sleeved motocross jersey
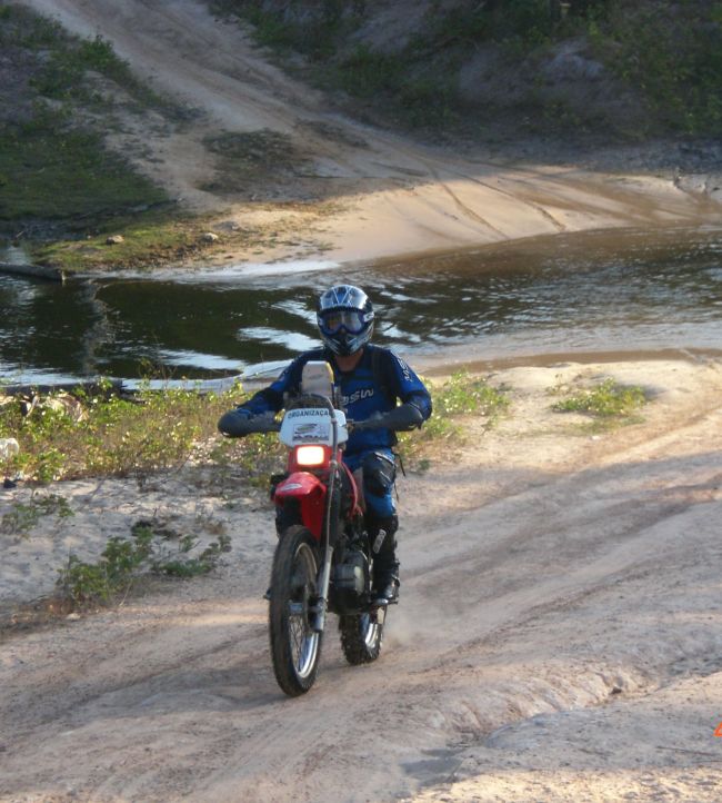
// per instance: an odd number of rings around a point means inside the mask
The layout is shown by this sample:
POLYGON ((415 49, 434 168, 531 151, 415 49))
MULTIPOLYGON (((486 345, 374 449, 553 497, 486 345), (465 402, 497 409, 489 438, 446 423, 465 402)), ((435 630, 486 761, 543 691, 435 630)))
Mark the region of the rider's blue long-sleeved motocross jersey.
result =
MULTIPOLYGON (((303 366, 310 360, 329 363, 343 409, 351 420, 362 422, 374 413, 387 413, 397 406, 397 400, 415 405, 424 420, 431 415, 431 396, 421 379, 393 351, 370 344, 364 346, 359 364, 350 371, 340 370, 328 349, 304 351, 273 384, 259 390, 241 408, 253 415, 281 410, 287 394, 293 396, 300 393, 303 366)), ((347 455, 389 448, 395 442, 395 435, 390 429, 354 430, 349 436, 347 455)))

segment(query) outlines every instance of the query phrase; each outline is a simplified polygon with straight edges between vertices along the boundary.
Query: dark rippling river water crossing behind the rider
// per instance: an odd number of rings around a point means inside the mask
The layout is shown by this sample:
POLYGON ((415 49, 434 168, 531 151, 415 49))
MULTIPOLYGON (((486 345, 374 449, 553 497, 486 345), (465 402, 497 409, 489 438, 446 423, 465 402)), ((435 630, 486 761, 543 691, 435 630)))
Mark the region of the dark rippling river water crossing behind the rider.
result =
MULTIPOLYGON (((410 359, 722 350, 722 228, 591 232, 288 275, 239 269, 56 285, 0 276, 0 376, 209 378, 318 344, 319 289, 367 288, 410 359)), ((721 351, 722 353, 722 351, 721 351)))

